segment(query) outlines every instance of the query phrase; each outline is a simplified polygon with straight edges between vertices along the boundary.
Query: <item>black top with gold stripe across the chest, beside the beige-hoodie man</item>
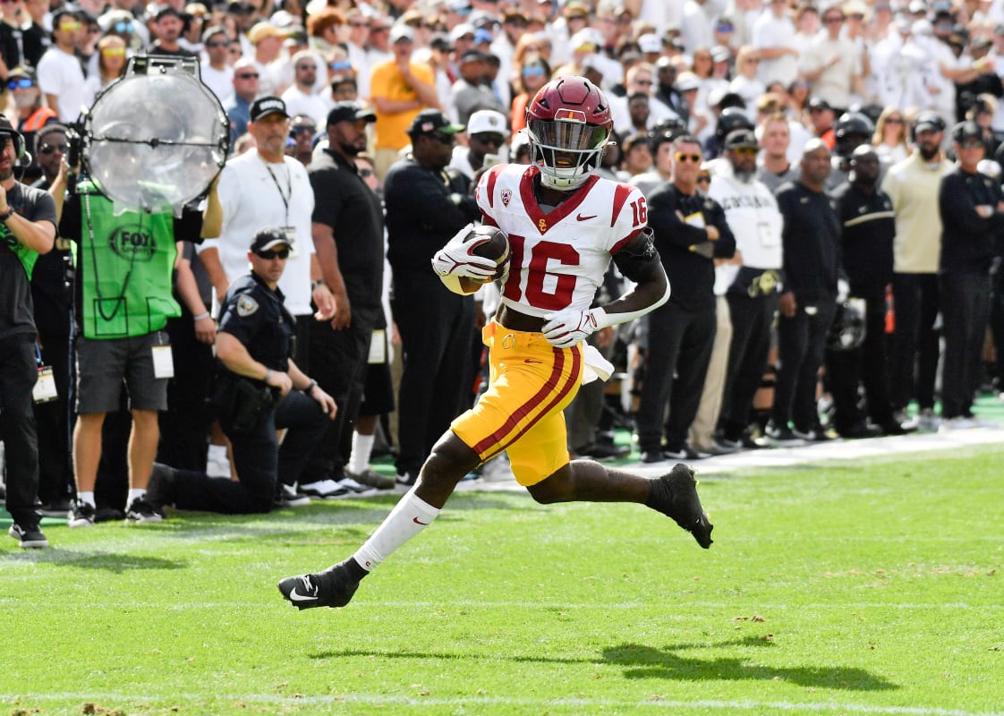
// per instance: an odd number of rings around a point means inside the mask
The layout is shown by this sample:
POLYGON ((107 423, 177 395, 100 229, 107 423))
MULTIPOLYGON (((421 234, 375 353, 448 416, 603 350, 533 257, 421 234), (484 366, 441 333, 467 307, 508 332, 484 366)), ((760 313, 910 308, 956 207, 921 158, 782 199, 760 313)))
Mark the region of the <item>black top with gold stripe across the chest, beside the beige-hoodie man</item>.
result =
POLYGON ((871 194, 845 184, 833 194, 843 231, 840 254, 851 283, 886 285, 893 280, 893 200, 877 187, 871 194))

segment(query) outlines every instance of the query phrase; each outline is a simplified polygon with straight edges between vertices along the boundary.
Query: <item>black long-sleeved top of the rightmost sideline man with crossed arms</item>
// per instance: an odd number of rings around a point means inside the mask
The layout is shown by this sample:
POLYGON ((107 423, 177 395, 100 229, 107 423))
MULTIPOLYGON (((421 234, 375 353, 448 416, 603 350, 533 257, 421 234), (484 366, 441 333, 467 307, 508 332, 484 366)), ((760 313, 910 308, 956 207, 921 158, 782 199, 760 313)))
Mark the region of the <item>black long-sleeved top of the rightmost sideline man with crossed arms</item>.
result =
POLYGON ((1000 185, 984 174, 969 174, 957 168, 942 178, 938 206, 942 219, 941 273, 985 272, 994 257, 994 238, 1004 229, 1004 214, 997 203, 1004 201, 1000 185), (984 219, 978 206, 992 206, 984 219))

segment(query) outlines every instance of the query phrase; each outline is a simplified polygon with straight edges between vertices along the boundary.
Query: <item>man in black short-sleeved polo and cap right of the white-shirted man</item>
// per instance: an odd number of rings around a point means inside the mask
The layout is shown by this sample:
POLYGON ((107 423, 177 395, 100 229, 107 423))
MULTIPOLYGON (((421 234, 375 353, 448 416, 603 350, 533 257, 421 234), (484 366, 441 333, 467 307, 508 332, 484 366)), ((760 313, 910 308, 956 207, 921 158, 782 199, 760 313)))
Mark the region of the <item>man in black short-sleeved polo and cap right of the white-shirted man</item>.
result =
POLYGON ((336 102, 327 115, 328 148, 307 167, 314 191, 311 235, 321 279, 334 296, 334 317, 310 326, 314 378, 338 404, 338 415, 311 457, 311 471, 349 491, 361 488, 344 475, 342 445, 349 440, 362 400, 369 340, 383 320, 384 210, 355 170, 366 147, 371 109, 336 102))

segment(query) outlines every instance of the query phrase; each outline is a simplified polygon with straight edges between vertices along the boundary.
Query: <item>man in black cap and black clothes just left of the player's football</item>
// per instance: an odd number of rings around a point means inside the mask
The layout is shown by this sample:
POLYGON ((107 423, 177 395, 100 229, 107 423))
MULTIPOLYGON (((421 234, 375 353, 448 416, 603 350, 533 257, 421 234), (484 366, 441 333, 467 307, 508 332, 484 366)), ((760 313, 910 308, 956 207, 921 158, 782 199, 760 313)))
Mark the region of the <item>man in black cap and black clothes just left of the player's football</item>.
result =
POLYGON ((409 130, 412 155, 385 182, 388 258, 394 272, 394 318, 405 349, 398 416, 399 482, 413 485, 433 444, 469 407, 474 298, 444 291, 432 258, 481 211, 470 180, 447 169, 456 135, 439 109, 419 112, 409 130))

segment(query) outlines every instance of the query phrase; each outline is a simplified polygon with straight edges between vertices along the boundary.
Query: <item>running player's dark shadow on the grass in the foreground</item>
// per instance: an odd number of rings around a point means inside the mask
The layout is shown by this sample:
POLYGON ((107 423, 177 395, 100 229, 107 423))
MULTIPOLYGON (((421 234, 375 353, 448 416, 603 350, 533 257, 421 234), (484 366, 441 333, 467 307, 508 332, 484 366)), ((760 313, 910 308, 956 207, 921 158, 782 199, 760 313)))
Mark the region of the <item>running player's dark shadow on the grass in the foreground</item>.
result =
MULTIPOLYGON (((621 644, 602 651, 600 661, 624 668, 628 679, 673 679, 676 681, 786 681, 818 689, 850 691, 889 691, 900 687, 863 669, 850 667, 766 667, 746 663, 740 657, 700 659, 679 656, 675 652, 695 649, 732 649, 737 647, 771 647, 771 642, 759 637, 720 642, 717 644, 681 644, 656 648, 643 644, 621 644)), ((345 657, 380 657, 384 659, 421 659, 454 662, 457 659, 507 659, 497 654, 450 654, 390 650, 325 650, 310 655, 311 659, 329 660, 345 657)), ((561 658, 544 656, 510 656, 509 661, 533 664, 595 664, 594 658, 561 658)))

